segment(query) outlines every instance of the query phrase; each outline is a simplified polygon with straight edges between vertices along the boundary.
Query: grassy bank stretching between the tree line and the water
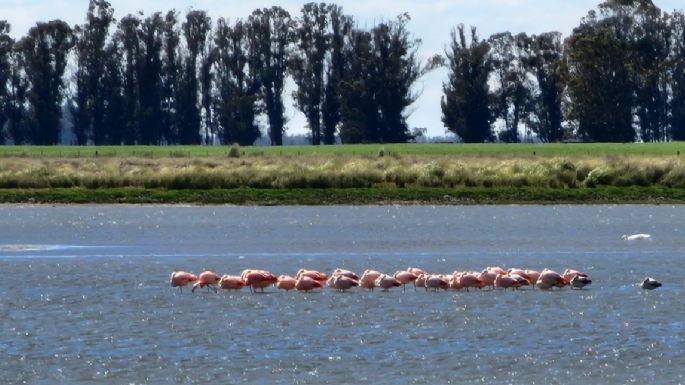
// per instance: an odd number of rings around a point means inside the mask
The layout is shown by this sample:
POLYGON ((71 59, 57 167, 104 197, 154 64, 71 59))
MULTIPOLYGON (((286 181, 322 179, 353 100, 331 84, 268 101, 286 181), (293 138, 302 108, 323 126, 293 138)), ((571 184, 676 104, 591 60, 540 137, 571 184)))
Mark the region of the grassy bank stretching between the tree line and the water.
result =
POLYGON ((677 155, 680 146, 391 145, 379 151, 378 145, 367 145, 314 147, 300 155, 250 153, 258 149, 249 148, 246 155, 241 149, 238 157, 229 157, 227 148, 218 147, 183 147, 187 156, 157 153, 168 151, 165 147, 151 147, 154 153, 137 156, 125 154, 142 151, 141 147, 117 147, 119 152, 111 156, 103 156, 100 151, 106 148, 102 147, 95 150, 98 156, 46 154, 93 147, 26 147, 19 155, 11 155, 10 150, 21 151, 21 147, 2 147, 0 202, 685 203, 685 161, 677 155), (483 152, 452 152, 469 148, 483 152), (549 155, 530 155, 531 148, 549 155), (560 148, 571 148, 574 154, 552 155, 560 148), (618 148, 643 152, 593 155, 600 149, 618 148), (507 155, 511 149, 515 155, 507 155), (353 155, 361 150, 368 154, 353 155), (216 153, 192 155, 197 151, 216 153))

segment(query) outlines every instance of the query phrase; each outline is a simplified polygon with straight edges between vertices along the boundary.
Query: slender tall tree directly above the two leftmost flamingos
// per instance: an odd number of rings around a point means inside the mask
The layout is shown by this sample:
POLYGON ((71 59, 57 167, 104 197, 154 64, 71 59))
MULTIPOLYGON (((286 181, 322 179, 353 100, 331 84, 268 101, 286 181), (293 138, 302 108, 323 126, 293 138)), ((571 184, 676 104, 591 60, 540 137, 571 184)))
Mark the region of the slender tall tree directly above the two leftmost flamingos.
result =
POLYGON ((200 144, 200 92, 198 81, 198 61, 205 52, 212 22, 204 11, 190 11, 183 23, 187 54, 184 58, 181 87, 179 89, 178 116, 179 141, 181 144, 200 144))

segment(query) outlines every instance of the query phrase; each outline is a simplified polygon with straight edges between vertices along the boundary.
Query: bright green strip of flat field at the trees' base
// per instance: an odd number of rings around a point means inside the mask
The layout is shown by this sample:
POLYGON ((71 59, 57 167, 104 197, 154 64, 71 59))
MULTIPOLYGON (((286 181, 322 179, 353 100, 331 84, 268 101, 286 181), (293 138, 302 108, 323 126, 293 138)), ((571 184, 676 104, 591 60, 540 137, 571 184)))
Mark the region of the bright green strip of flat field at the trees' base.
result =
MULTIPOLYGON (((0 157, 225 157, 229 146, 0 146, 0 157)), ((685 156, 685 142, 568 144, 363 144, 241 147, 243 156, 585 157, 685 156)))

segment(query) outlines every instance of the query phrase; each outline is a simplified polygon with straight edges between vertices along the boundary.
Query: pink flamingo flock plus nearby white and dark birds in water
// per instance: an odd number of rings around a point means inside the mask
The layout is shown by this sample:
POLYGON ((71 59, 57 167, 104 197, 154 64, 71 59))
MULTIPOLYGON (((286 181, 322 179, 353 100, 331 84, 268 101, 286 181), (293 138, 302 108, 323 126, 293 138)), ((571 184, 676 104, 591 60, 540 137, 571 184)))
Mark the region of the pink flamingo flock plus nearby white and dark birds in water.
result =
MULTIPOLYGON (((626 242, 649 241, 649 234, 624 235, 622 239, 626 242)), ((504 270, 501 267, 486 267, 481 272, 474 271, 455 271, 452 274, 429 274, 426 271, 410 267, 405 271, 397 271, 394 275, 382 274, 375 270, 366 270, 361 277, 352 271, 345 269, 335 269, 329 276, 316 270, 300 269, 295 277, 281 275, 276 277, 266 270, 246 269, 240 276, 224 275, 219 276, 212 271, 205 271, 199 276, 185 271, 175 271, 171 274, 170 283, 172 287, 178 287, 183 291, 183 287, 192 284, 192 291, 197 288, 206 287, 207 290, 218 288, 224 290, 240 290, 247 286, 251 292, 276 285, 280 290, 312 291, 328 286, 332 289, 344 292, 354 287, 374 290, 390 290, 395 287, 402 287, 411 284, 414 290, 417 287, 425 290, 466 290, 483 289, 512 289, 518 290, 521 287, 532 286, 541 290, 551 290, 555 287, 563 288, 570 286, 572 289, 582 289, 592 283, 587 273, 574 269, 566 269, 563 274, 559 274, 550 269, 541 272, 536 270, 512 268, 504 270)), ((645 278, 640 287, 646 290, 653 290, 661 286, 661 283, 653 278, 645 278)))

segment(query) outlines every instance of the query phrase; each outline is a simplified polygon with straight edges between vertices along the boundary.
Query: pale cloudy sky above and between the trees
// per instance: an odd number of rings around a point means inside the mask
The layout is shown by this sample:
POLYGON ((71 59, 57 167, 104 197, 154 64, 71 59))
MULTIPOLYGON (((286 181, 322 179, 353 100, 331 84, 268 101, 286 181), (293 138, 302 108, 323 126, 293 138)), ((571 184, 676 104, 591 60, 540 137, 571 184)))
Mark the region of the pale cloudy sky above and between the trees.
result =
MULTIPOLYGON (((213 19, 224 17, 237 19, 247 17, 254 9, 279 5, 291 15, 298 15, 302 5, 309 1, 276 0, 110 0, 115 17, 128 13, 177 9, 208 11, 213 19)), ((330 1, 329 1, 330 2, 330 1)), ((449 44, 450 32, 456 25, 475 26, 482 38, 493 33, 510 31, 538 34, 559 31, 568 36, 580 19, 594 9, 600 0, 339 0, 345 13, 354 16, 362 27, 371 27, 378 21, 390 20, 408 12, 411 16, 410 31, 422 40, 419 56, 428 58, 443 54, 449 44)), ((664 11, 685 8, 682 0, 653 0, 664 11)), ((82 23, 88 8, 88 0, 0 0, 0 19, 12 25, 12 36, 23 36, 37 21, 62 19, 71 25, 82 23)), ((442 83, 447 79, 446 70, 434 71, 421 78, 415 87, 420 94, 409 108, 409 127, 424 127, 428 135, 445 134, 441 122, 440 97, 442 83)), ((292 87, 292 85, 291 85, 292 87)), ((286 95, 288 107, 288 133, 305 133, 304 116, 292 107, 292 99, 286 95)))

